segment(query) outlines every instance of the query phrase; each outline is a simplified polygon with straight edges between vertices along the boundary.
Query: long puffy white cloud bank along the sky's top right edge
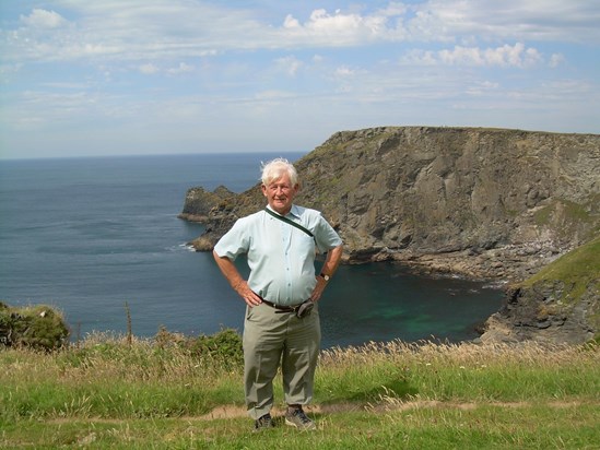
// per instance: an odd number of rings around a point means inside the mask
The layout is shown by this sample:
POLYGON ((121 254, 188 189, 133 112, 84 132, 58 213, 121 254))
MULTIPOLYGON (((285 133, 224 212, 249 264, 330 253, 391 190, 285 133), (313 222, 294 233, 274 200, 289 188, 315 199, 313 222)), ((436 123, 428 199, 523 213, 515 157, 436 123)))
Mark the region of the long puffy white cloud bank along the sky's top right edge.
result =
MULTIPOLYGON (((372 42, 600 42, 592 2, 561 0, 431 0, 390 2, 370 12, 317 9, 303 22, 287 14, 279 45, 348 46, 372 42)), ((277 44, 274 44, 277 45, 277 44)))

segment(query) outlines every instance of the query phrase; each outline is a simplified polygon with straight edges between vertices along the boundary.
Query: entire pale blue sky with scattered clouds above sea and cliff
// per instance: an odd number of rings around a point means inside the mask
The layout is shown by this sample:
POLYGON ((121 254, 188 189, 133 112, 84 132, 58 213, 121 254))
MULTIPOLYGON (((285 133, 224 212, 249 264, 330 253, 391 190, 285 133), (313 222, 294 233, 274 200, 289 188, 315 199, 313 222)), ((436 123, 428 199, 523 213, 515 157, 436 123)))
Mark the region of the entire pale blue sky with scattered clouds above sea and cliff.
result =
POLYGON ((600 132, 599 0, 0 0, 0 158, 600 132))

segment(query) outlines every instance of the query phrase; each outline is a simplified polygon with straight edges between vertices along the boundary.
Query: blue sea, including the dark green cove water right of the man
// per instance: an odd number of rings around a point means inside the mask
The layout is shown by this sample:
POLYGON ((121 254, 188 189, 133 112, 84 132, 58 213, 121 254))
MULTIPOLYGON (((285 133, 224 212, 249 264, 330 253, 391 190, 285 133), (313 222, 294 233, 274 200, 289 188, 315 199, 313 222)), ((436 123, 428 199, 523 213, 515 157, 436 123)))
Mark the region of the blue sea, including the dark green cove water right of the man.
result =
MULTIPOLYGON (((125 334, 128 317, 140 338, 242 332, 244 301, 212 254, 189 246, 203 226, 177 214, 189 188, 256 188, 261 163, 277 156, 303 154, 0 161, 0 301, 59 309, 72 340, 125 334)), ((472 340, 502 300, 485 282, 342 265, 319 304, 322 347, 472 340)))

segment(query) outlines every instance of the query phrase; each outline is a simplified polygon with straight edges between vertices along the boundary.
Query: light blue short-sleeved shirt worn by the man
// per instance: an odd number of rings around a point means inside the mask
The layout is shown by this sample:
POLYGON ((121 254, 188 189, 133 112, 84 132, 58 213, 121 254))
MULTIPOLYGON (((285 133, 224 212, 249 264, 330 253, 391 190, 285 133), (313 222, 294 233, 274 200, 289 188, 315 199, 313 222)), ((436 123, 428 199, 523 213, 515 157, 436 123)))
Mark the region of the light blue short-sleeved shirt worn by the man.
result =
POLYGON ((232 261, 246 253, 250 288, 266 300, 282 306, 297 305, 310 297, 317 284, 317 251, 326 252, 342 244, 318 211, 292 205, 285 217, 309 229, 314 238, 259 211, 237 220, 214 247, 216 254, 232 261))

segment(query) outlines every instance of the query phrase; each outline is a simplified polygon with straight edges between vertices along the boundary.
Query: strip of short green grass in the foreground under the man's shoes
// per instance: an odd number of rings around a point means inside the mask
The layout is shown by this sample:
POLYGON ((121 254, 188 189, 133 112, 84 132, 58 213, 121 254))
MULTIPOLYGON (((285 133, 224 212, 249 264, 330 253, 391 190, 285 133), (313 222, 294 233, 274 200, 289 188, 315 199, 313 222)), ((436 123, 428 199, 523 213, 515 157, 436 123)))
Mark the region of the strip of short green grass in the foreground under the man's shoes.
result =
MULTIPOLYGON (((593 449, 600 418, 590 406, 415 406, 317 415, 319 429, 285 426, 259 435, 239 417, 55 421, 13 430, 32 448, 110 449, 593 449)), ((1 440, 0 440, 1 442, 1 440)))

